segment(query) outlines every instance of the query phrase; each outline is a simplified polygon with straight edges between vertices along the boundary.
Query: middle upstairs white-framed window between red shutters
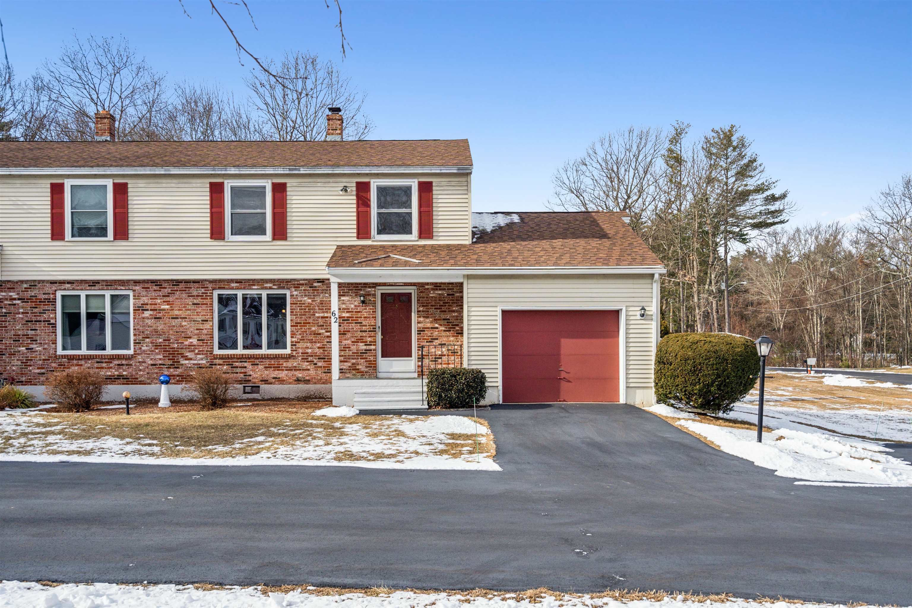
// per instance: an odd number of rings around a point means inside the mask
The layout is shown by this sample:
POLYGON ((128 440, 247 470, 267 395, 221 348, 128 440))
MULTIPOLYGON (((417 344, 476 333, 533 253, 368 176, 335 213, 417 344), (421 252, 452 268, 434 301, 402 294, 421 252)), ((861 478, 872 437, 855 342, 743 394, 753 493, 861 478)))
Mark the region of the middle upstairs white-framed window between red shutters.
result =
POLYGON ((273 187, 270 180, 225 182, 225 238, 268 241, 273 237, 273 187))

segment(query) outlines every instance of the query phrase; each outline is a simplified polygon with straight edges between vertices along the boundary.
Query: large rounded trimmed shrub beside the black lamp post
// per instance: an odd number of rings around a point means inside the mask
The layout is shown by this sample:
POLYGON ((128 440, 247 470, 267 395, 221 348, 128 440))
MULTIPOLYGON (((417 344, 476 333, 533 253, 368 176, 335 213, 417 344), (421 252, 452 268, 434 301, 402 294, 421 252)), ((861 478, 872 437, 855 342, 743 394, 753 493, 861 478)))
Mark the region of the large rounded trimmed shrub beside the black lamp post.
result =
POLYGON ((750 393, 759 377, 760 357, 750 338, 673 333, 658 342, 658 403, 726 414, 750 393))

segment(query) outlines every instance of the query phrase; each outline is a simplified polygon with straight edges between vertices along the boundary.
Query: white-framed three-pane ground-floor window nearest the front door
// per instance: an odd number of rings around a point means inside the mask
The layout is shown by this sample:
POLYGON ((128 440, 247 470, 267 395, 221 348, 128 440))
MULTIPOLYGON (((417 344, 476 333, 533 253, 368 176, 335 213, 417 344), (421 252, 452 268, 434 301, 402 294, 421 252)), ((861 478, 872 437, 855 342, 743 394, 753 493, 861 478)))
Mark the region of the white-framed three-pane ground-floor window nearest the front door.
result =
POLYGON ((216 290, 215 352, 290 352, 288 299, 281 289, 216 290))

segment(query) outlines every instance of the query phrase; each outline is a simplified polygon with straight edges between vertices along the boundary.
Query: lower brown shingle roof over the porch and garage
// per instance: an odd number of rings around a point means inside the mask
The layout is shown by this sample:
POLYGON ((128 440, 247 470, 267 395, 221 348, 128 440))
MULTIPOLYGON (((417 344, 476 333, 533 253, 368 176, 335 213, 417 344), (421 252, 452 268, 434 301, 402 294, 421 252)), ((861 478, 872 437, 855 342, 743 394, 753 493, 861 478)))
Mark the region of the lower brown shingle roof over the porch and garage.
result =
POLYGON ((472 214, 470 244, 342 245, 330 268, 660 267, 661 261, 612 212, 472 214), (507 222, 507 223, 504 223, 507 222), (416 262, 400 259, 408 257, 416 262))

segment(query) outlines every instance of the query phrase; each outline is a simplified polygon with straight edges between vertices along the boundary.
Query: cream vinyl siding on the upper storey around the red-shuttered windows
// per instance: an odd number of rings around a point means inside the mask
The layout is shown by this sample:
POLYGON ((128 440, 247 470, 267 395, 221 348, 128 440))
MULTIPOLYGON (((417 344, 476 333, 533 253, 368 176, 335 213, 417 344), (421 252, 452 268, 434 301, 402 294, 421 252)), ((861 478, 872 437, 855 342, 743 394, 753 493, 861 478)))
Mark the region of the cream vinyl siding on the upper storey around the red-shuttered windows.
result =
POLYGON ((115 175, 129 183, 130 240, 51 241, 49 184, 71 177, 110 176, 0 177, 0 278, 323 278, 335 246, 378 242, 355 238, 355 183, 372 178, 434 183, 434 238, 406 242, 472 239, 468 173, 383 173, 115 175), (288 240, 210 240, 209 182, 233 179, 288 184, 288 240))

